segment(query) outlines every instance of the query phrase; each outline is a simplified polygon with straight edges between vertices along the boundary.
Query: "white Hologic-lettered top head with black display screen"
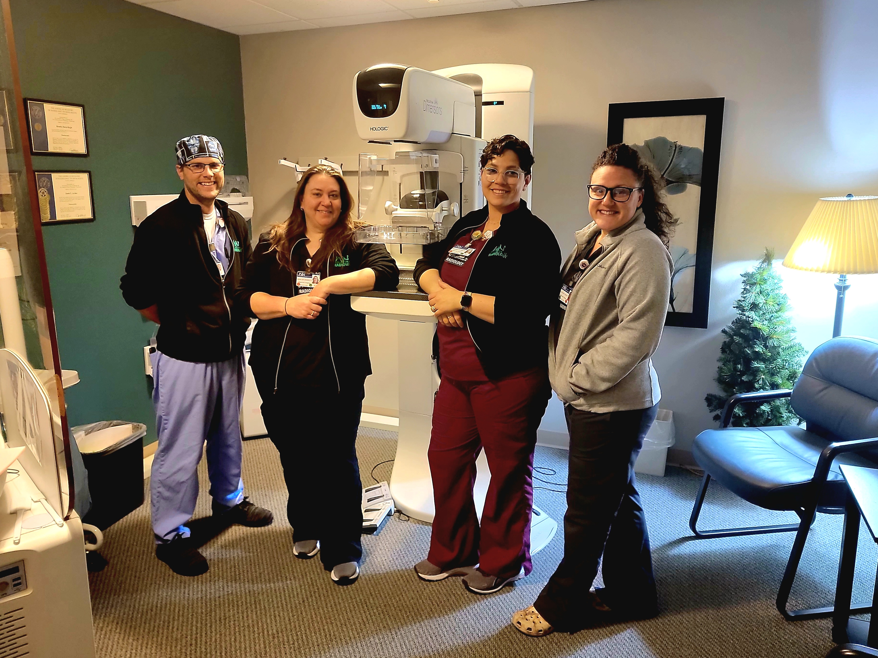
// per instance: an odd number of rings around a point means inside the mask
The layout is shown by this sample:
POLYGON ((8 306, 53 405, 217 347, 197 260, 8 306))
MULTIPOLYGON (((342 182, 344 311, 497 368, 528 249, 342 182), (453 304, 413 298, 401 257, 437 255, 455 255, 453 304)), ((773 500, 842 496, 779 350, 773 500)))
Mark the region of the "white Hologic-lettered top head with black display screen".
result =
POLYGON ((475 137, 472 88, 422 68, 377 64, 354 75, 354 121, 361 139, 442 144, 475 137))

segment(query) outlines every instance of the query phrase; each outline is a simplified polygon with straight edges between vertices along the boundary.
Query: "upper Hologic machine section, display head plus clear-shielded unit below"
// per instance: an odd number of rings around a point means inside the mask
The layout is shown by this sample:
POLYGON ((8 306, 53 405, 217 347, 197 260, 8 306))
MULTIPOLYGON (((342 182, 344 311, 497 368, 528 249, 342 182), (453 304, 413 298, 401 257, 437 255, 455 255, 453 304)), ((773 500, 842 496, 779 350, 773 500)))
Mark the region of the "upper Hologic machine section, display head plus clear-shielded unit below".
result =
POLYGON ((475 92, 421 68, 378 64, 354 76, 354 116, 363 139, 385 145, 360 154, 361 242, 423 245, 482 205, 475 92), (390 222, 382 217, 390 216, 390 222))

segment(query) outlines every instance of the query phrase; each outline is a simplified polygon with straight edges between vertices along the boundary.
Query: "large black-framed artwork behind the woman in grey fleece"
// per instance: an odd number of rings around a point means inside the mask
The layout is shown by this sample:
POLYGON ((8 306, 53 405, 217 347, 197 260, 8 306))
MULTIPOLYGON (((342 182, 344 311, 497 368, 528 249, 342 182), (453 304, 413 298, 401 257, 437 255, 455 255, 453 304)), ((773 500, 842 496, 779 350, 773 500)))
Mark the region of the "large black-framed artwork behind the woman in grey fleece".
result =
POLYGON ((725 98, 613 103, 607 146, 628 144, 659 172, 678 219, 667 326, 706 329, 725 98))

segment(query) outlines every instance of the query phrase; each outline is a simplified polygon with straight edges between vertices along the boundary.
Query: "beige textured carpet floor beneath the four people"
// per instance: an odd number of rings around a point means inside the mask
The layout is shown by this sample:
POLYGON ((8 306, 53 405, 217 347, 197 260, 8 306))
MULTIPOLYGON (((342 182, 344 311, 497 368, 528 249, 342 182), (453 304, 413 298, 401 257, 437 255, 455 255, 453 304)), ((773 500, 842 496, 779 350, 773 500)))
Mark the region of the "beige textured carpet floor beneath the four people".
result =
MULTIPOLYGON (((374 464, 392 458, 395 440, 393 433, 361 428, 364 483, 371 483, 374 464)), ((680 469, 640 480, 662 615, 628 627, 534 640, 508 626, 508 619, 532 603, 551 576, 561 558, 563 532, 536 555, 528 578, 493 596, 476 597, 458 579, 419 581, 412 565, 427 553, 430 528, 394 518, 378 535, 363 538, 360 582, 337 587, 319 561, 291 555, 286 492, 274 447, 269 440, 247 441, 244 447, 247 493, 275 511, 275 524, 234 526, 211 540, 203 549, 211 569, 198 578, 176 576, 155 559, 148 504, 112 526, 102 550, 110 564, 90 575, 98 656, 817 658, 832 646, 828 620, 788 623, 774 610, 792 535, 685 539, 698 478, 680 469)), ((565 460, 564 451, 537 448, 536 464, 558 470, 547 480, 565 482, 565 460)), ((389 475, 389 464, 376 471, 378 479, 389 475)), ((204 463, 200 476, 196 517, 209 513, 204 463)), ((535 497, 544 511, 562 519, 563 494, 536 490, 535 497)), ((303 499, 303 504, 319 507, 320 501, 303 499)), ((703 517, 707 524, 744 525, 772 522, 777 515, 718 490, 709 496, 703 517)), ((840 529, 840 519, 821 517, 811 533, 795 587, 798 604, 831 601, 840 529)), ((860 547, 858 595, 864 598, 871 596, 875 551, 866 535, 860 547)))

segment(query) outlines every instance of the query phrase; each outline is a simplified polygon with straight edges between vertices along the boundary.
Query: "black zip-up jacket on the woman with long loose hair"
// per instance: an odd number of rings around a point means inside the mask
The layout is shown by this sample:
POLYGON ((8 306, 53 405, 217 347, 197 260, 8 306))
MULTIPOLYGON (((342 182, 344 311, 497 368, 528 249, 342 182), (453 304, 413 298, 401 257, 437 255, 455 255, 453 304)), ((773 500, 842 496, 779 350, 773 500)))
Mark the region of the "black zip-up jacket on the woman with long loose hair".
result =
MULTIPOLYGON (((294 240, 295 249, 299 240, 294 240)), ((235 304, 255 316, 250 308, 250 297, 255 292, 267 292, 276 297, 295 297, 295 272, 284 268, 277 261, 277 253, 270 251, 269 234, 263 233, 248 261, 241 283, 235 290, 235 304)), ((382 244, 355 243, 344 250, 342 258, 329 256, 320 271, 322 278, 348 274, 358 269, 375 271, 373 290, 395 290, 399 285, 399 268, 396 261, 382 244)), ((329 354, 335 368, 335 384, 338 390, 362 388, 366 377, 371 375, 369 340, 366 337, 366 316, 350 308, 350 295, 330 295, 320 314, 327 314, 329 354)), ((284 340, 293 322, 312 322, 291 316, 259 320, 253 329, 250 345, 250 369, 256 388, 263 397, 277 390, 278 375, 283 378, 282 368, 295 368, 295 363, 284 361, 289 347, 284 340)))

